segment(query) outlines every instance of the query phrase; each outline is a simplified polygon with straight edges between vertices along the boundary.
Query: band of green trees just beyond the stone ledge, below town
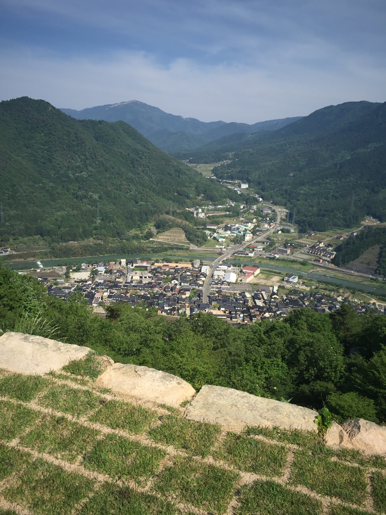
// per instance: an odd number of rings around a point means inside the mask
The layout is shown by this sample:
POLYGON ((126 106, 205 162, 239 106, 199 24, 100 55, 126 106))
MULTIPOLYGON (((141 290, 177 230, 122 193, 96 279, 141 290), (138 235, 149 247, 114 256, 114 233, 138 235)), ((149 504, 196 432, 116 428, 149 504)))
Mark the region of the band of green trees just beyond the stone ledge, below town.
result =
POLYGON ((337 420, 386 421, 386 316, 358 317, 343 304, 331 314, 309 308, 284 320, 236 327, 213 315, 168 322, 151 309, 123 304, 102 319, 80 293, 69 302, 35 279, 0 266, 2 331, 29 332, 90 347, 121 363, 203 384, 321 408, 337 420))

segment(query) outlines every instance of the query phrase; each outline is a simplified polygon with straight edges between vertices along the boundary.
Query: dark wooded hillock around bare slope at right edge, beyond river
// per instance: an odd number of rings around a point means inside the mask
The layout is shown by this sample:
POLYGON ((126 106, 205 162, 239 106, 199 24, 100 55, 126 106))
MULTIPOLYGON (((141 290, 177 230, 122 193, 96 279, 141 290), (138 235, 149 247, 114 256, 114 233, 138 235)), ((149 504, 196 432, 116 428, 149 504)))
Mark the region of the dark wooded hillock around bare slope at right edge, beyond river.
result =
POLYGON ((374 245, 381 246, 375 273, 386 278, 386 227, 366 227, 358 234, 350 235, 336 247, 337 253, 332 263, 337 266, 346 265, 374 245))

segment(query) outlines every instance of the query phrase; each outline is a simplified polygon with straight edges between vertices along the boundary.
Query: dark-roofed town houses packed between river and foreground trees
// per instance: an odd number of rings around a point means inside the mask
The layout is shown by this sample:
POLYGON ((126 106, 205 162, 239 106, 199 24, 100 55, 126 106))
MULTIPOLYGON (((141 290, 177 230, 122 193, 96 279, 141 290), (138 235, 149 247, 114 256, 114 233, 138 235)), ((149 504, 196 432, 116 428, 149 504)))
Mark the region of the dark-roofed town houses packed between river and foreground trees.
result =
MULTIPOLYGON (((342 299, 326 297, 320 292, 291 289, 279 295, 277 286, 254 284, 247 286, 260 269, 242 268, 223 263, 214 271, 208 302, 202 302, 202 286, 209 273, 208 265, 154 264, 131 260, 127 263, 82 265, 80 279, 49 284, 48 293, 68 300, 80 291, 91 306, 125 302, 132 307, 153 307, 157 313, 169 316, 210 312, 232 323, 253 323, 263 318, 282 318, 291 310, 305 306, 318 312, 339 309, 342 299)), ((297 276, 287 274, 284 283, 297 282, 297 276)), ((358 314, 374 309, 371 305, 355 303, 358 314)), ((381 313, 383 311, 379 310, 381 313)))

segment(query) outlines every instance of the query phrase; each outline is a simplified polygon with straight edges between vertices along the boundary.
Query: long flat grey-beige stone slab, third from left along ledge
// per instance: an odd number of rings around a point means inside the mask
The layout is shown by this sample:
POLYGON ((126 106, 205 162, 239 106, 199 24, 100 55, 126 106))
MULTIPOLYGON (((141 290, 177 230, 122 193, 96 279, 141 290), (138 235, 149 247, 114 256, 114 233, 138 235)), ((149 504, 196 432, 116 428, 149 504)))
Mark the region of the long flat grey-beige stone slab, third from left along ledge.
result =
POLYGON ((189 420, 221 424, 235 431, 246 425, 317 431, 316 416, 312 409, 210 385, 201 388, 185 411, 189 420))

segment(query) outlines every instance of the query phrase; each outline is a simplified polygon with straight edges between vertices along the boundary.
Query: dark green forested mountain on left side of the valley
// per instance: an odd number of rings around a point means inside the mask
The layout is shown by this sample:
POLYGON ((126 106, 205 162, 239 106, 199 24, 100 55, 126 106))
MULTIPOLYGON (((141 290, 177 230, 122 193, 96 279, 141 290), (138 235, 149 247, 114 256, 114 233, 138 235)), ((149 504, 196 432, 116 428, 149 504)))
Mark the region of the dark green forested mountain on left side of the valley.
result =
POLYGON ((0 179, 3 241, 125 237, 170 200, 184 208, 228 195, 124 122, 78 121, 28 97, 0 102, 0 179))

